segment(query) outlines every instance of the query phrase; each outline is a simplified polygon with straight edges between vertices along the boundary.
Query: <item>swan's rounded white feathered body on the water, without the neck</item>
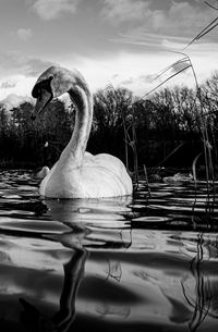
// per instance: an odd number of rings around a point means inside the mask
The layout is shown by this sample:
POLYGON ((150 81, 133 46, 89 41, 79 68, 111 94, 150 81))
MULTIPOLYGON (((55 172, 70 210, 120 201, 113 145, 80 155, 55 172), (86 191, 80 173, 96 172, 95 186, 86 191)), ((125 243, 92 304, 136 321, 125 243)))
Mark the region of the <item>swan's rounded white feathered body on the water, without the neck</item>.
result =
POLYGON ((97 198, 132 194, 132 181, 123 163, 107 153, 84 153, 83 164, 60 158, 43 180, 40 195, 51 198, 97 198))

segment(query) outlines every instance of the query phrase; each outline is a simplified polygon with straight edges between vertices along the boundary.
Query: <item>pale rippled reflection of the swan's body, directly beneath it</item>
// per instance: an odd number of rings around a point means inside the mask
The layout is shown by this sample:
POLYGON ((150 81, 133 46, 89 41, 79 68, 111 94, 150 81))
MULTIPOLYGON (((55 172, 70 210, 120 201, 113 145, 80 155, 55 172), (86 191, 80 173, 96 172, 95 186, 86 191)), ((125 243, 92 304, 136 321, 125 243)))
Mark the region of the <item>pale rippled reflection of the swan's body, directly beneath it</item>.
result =
POLYGON ((124 214, 131 209, 130 197, 113 199, 46 200, 52 220, 69 226, 69 232, 51 235, 66 247, 128 247, 130 224, 124 214))

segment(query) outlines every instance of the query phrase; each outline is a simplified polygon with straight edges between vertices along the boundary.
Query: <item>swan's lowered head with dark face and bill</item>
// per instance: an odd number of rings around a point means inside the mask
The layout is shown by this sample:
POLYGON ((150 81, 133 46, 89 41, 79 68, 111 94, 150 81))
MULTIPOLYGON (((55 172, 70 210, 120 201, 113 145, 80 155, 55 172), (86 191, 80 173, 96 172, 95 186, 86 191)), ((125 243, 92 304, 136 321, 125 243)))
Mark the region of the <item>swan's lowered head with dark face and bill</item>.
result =
POLYGON ((69 71, 61 66, 50 66, 37 79, 32 96, 37 99, 32 113, 34 120, 46 106, 53 99, 70 90, 75 94, 83 89, 88 94, 87 85, 77 71, 69 71))

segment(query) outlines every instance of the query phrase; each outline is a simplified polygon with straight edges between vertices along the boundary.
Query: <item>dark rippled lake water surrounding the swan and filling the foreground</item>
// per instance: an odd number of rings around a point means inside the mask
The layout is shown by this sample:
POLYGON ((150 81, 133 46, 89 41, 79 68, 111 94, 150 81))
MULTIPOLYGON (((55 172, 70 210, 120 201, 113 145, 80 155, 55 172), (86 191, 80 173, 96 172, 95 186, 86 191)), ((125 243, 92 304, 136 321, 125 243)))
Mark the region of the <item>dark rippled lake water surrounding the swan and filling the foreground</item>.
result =
POLYGON ((0 331, 218 331, 217 228, 204 182, 41 200, 0 172, 0 331))

